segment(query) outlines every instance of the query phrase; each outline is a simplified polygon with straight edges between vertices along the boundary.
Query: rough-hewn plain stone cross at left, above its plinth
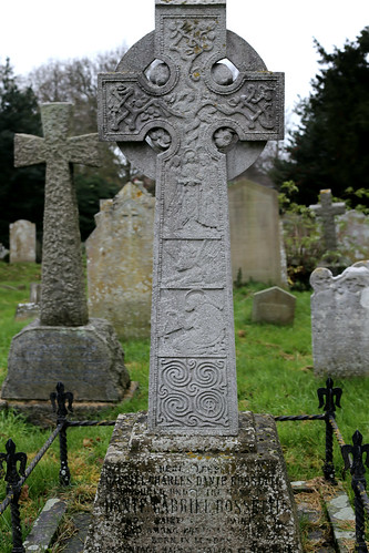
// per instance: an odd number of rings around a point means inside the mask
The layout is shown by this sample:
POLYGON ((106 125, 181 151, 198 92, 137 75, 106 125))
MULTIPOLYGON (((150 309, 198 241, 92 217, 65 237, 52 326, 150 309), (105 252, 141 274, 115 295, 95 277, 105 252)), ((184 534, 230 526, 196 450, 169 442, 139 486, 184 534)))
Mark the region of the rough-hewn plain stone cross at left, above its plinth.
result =
POLYGON ((81 236, 72 164, 98 166, 98 135, 69 136, 70 103, 41 105, 44 139, 16 134, 14 165, 47 164, 41 325, 82 326, 88 322, 81 236))

